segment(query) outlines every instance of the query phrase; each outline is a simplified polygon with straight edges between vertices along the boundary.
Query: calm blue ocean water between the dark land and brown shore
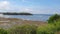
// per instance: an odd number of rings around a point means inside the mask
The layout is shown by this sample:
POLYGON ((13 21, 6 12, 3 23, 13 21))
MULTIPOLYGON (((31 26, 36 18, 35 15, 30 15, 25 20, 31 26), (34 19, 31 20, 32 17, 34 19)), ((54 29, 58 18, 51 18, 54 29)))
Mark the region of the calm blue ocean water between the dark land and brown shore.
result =
POLYGON ((4 15, 6 18, 18 18, 32 21, 47 21, 50 14, 34 14, 34 15, 4 15))

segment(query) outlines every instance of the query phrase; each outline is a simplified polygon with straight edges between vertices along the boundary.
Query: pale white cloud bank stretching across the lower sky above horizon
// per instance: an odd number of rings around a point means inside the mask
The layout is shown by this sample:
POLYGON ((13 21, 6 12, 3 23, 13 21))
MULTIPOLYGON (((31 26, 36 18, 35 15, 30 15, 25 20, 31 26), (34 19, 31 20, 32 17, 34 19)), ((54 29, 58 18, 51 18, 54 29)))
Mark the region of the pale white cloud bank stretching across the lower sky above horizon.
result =
MULTIPOLYGON (((22 0, 25 2, 26 0, 22 0)), ((12 5, 9 1, 0 1, 0 12, 30 12, 34 14, 54 14, 60 13, 60 10, 48 9, 43 7, 24 7, 24 6, 15 6, 12 5)))

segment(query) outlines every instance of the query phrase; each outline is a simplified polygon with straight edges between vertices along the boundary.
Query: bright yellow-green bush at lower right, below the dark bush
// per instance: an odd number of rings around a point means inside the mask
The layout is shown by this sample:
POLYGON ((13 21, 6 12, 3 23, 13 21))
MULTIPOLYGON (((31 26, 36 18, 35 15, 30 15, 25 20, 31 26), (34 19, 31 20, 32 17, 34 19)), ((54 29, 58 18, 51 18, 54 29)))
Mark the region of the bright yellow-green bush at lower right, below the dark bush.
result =
POLYGON ((40 26, 37 29, 37 34, 54 34, 55 32, 56 32, 55 26, 51 24, 40 26))

